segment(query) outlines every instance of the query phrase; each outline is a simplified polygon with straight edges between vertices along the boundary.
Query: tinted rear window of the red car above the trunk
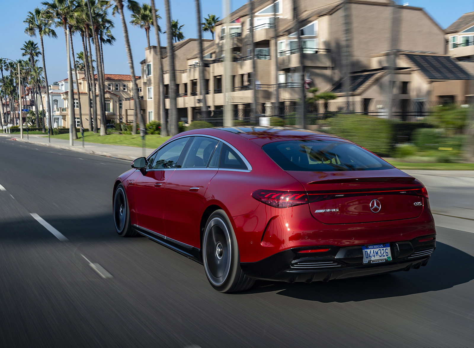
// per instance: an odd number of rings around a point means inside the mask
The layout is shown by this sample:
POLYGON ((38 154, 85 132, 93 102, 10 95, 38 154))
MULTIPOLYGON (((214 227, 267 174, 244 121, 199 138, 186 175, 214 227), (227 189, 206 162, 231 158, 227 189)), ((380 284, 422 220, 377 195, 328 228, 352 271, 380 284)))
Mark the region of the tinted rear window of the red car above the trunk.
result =
POLYGON ((371 152, 342 141, 288 140, 264 145, 263 150, 283 170, 336 172, 393 168, 371 152))

